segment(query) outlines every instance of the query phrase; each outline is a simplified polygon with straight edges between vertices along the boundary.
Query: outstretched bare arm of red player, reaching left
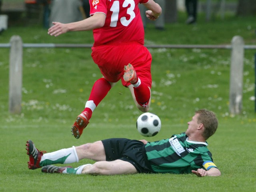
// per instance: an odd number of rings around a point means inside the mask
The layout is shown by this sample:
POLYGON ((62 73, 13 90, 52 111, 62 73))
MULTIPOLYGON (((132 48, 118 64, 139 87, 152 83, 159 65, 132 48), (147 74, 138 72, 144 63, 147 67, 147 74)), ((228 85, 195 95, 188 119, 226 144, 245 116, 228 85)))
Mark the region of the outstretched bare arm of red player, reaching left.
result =
POLYGON ((60 22, 52 22, 54 24, 48 29, 48 34, 58 36, 69 31, 88 31, 104 26, 106 15, 104 13, 95 13, 93 16, 78 22, 63 24, 60 22))

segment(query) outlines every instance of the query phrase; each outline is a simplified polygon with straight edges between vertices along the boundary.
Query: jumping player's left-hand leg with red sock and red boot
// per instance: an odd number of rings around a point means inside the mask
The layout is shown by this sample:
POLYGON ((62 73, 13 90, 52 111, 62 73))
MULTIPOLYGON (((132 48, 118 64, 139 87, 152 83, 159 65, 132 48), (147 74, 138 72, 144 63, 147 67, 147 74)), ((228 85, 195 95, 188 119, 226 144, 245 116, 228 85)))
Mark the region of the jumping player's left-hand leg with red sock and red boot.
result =
POLYGON ((74 125, 71 128, 72 135, 74 135, 75 138, 80 138, 84 128, 86 128, 90 118, 92 117, 92 112, 108 94, 109 90, 112 86, 114 86, 114 84, 115 83, 108 82, 108 80, 105 78, 100 78, 94 83, 84 110, 80 115, 78 115, 74 125))

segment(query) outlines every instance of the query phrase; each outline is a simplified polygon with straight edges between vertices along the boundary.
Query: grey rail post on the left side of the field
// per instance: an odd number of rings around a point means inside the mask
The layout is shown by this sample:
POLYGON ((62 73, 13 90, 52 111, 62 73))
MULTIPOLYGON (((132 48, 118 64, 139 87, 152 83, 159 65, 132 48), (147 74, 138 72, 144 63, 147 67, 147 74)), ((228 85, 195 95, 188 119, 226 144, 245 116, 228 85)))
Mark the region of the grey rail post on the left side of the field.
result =
POLYGON ((12 36, 10 44, 9 112, 20 114, 22 98, 22 39, 20 36, 12 36))

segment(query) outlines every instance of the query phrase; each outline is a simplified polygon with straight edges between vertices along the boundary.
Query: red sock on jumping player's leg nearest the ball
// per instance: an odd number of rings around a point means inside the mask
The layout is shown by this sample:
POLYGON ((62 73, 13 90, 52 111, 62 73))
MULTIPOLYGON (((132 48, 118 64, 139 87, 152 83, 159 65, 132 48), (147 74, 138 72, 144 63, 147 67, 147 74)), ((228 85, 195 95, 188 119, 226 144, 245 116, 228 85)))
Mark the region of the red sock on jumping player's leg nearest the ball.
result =
POLYGON ((148 86, 141 83, 140 86, 134 87, 133 89, 134 89, 134 95, 138 104, 142 107, 146 107, 150 99, 150 90, 148 86))

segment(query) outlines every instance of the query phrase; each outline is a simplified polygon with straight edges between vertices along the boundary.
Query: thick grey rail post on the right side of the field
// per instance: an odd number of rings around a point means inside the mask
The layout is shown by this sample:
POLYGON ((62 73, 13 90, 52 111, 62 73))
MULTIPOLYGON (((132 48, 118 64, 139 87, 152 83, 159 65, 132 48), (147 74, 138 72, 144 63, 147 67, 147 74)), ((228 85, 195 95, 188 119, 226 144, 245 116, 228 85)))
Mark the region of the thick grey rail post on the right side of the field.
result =
POLYGON ((243 98, 244 40, 234 36, 231 41, 229 111, 240 114, 243 98))

